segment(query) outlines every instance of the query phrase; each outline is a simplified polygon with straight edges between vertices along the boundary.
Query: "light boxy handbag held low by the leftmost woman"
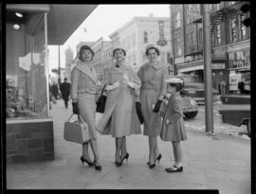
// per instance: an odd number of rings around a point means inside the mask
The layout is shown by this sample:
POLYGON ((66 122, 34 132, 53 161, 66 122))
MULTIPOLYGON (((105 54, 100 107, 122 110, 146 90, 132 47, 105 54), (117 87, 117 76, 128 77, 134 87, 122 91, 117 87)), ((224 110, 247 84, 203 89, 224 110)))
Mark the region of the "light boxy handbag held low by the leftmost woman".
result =
POLYGON ((72 115, 66 122, 64 122, 64 140, 77 144, 82 144, 89 141, 90 134, 88 125, 83 122, 80 115, 78 115, 78 120, 70 121, 72 115))

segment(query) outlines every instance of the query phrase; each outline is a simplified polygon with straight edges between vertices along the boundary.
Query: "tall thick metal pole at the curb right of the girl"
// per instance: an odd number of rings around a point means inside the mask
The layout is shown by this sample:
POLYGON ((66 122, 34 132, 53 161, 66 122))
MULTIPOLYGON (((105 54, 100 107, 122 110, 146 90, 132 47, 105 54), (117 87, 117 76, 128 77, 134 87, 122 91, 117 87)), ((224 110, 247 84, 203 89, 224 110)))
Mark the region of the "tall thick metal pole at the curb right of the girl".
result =
POLYGON ((212 77, 211 77, 211 46, 210 46, 210 12, 207 4, 202 4, 204 31, 204 79, 205 79, 205 113, 206 132, 213 133, 212 110, 212 77))

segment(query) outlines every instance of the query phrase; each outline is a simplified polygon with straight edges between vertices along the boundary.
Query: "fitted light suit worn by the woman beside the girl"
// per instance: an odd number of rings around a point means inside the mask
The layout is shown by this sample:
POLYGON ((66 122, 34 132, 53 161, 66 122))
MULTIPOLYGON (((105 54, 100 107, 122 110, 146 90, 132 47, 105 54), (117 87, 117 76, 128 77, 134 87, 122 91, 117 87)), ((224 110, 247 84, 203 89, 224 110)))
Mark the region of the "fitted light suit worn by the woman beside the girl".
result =
POLYGON ((153 112, 153 104, 160 96, 166 94, 165 79, 168 76, 168 64, 145 63, 138 72, 141 80, 140 101, 144 117, 144 135, 156 136, 160 134, 161 117, 153 112))

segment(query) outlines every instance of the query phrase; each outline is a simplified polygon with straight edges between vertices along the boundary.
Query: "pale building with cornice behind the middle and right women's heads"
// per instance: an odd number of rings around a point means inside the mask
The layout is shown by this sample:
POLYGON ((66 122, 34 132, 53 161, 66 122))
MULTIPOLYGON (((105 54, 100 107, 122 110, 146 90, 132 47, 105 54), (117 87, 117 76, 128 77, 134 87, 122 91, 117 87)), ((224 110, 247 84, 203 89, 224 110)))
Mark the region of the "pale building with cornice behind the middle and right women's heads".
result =
POLYGON ((147 62, 145 48, 149 44, 158 46, 161 54, 160 62, 171 65, 170 18, 135 17, 110 34, 112 47, 126 50, 126 62, 136 71, 147 62))

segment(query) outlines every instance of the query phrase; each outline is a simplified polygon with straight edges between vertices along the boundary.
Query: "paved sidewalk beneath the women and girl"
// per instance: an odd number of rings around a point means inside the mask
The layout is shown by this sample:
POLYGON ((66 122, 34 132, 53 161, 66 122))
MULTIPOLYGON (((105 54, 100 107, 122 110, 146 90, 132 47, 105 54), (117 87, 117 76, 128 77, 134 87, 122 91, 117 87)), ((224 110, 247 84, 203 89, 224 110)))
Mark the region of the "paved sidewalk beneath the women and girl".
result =
MULTIPOLYGON (((140 135, 127 137, 128 163, 114 164, 115 139, 99 134, 102 171, 79 160, 80 145, 64 141, 64 121, 71 115, 62 100, 53 105, 55 160, 40 163, 10 164, 7 167, 9 189, 219 189, 221 194, 250 193, 250 141, 219 133, 187 127, 188 140, 181 143, 184 171, 166 173, 174 164, 171 143, 158 146, 163 158, 149 169, 148 139, 140 135)), ((92 154, 91 154, 92 156, 92 154)))

